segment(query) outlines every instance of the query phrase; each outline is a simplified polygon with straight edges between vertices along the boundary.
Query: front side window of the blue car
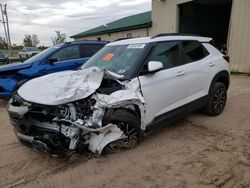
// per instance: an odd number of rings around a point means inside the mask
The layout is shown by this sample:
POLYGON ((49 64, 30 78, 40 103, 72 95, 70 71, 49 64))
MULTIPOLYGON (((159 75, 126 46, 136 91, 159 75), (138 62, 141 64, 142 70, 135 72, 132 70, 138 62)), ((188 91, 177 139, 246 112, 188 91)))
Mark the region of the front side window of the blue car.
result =
POLYGON ((80 53, 79 53, 79 46, 68 46, 65 48, 62 48, 58 52, 56 52, 54 55, 52 55, 52 58, 57 58, 57 61, 66 61, 70 59, 79 59, 80 53))

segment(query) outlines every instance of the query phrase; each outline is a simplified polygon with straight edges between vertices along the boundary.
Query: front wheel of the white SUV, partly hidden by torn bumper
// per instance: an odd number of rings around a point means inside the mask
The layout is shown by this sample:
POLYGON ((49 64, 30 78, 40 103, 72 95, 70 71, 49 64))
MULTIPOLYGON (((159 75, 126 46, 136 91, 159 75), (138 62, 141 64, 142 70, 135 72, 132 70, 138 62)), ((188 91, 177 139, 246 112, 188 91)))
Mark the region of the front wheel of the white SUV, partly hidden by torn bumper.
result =
POLYGON ((140 121, 138 117, 126 110, 117 109, 109 123, 117 125, 127 138, 109 143, 103 149, 104 154, 114 154, 124 149, 131 149, 137 146, 141 140, 140 121))

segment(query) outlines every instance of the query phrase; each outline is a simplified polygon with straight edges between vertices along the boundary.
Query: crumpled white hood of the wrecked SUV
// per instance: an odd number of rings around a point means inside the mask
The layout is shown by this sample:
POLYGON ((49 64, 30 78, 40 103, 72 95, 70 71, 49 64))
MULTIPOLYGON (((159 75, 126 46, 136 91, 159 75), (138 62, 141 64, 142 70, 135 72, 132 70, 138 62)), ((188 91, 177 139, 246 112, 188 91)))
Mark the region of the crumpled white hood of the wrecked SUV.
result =
POLYGON ((100 87, 103 76, 104 70, 98 67, 53 73, 26 82, 18 94, 29 102, 61 105, 90 96, 100 87))

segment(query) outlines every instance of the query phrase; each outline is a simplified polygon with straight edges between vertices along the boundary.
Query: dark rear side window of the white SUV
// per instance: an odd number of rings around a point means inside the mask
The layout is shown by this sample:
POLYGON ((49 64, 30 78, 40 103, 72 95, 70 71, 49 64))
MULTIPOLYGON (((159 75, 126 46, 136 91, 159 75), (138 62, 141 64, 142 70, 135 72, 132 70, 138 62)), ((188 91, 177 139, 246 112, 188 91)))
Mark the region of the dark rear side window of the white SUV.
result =
POLYGON ((198 41, 183 41, 185 63, 191 63, 203 59, 208 55, 208 52, 198 41))

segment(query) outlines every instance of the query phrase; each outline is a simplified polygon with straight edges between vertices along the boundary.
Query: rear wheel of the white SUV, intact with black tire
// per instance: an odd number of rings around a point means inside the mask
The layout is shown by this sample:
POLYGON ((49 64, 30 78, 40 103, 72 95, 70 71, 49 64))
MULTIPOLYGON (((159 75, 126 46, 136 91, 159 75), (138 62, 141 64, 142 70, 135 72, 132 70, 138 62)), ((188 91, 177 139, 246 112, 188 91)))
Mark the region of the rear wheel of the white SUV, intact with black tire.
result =
POLYGON ((227 88, 221 82, 215 82, 210 89, 206 112, 211 116, 220 115, 227 102, 227 88))

